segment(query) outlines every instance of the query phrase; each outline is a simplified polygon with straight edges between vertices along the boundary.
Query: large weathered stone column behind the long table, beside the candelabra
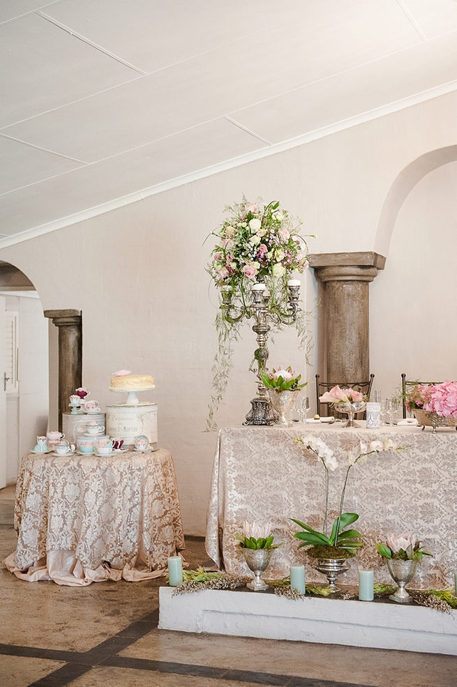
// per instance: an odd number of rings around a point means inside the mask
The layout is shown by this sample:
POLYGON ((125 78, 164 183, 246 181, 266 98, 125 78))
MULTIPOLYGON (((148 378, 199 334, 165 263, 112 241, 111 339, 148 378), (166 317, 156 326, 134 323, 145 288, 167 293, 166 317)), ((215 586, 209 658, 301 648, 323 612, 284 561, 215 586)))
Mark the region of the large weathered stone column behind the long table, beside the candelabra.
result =
POLYGON ((319 373, 322 382, 370 377, 368 285, 384 269, 375 252, 310 256, 319 286, 319 373))

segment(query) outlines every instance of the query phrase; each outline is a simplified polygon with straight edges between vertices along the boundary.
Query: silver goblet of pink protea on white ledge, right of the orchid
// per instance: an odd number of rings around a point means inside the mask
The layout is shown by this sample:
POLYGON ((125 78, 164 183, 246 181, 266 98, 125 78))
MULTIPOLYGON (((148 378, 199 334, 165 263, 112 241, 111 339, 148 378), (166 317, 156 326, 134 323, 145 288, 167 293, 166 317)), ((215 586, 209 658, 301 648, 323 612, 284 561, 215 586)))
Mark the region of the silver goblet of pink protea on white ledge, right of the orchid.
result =
POLYGON ((412 597, 407 593, 405 585, 411 582, 416 574, 417 565, 422 557, 433 554, 424 551, 421 542, 414 536, 403 534, 389 535, 387 542, 377 543, 376 548, 380 556, 387 559, 389 573, 398 584, 397 591, 389 598, 397 603, 410 603, 412 597))

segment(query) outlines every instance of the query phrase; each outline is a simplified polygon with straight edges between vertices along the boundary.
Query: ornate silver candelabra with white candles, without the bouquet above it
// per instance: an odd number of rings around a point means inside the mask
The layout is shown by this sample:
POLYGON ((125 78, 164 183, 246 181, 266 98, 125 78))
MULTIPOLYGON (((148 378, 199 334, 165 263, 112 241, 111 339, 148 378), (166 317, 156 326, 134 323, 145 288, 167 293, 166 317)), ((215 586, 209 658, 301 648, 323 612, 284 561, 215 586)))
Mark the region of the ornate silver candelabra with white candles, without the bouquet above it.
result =
POLYGON ((257 396, 250 402, 252 407, 246 415, 245 425, 274 425, 278 418, 278 414, 271 407, 267 389, 262 383, 262 373, 266 370, 269 355, 267 349, 267 337, 271 329, 269 321, 274 324, 294 324, 301 309, 299 305, 300 281, 290 279, 287 282, 287 289, 289 294, 285 312, 279 307, 271 307, 270 294, 263 283, 253 285, 250 292, 251 302, 244 304, 243 307, 232 303, 232 287, 225 286, 221 289, 220 308, 227 322, 234 324, 244 317, 255 319, 252 329, 257 334, 257 349, 254 353, 254 359, 257 361, 257 396))

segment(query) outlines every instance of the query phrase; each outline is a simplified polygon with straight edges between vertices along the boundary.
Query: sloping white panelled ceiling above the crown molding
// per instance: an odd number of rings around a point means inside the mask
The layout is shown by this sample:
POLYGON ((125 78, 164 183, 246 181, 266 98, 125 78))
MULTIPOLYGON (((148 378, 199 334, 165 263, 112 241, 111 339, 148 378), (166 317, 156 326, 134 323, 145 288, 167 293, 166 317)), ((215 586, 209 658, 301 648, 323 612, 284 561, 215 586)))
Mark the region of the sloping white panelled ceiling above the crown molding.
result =
POLYGON ((457 1, 2 0, 0 59, 1 247, 457 89, 457 1))

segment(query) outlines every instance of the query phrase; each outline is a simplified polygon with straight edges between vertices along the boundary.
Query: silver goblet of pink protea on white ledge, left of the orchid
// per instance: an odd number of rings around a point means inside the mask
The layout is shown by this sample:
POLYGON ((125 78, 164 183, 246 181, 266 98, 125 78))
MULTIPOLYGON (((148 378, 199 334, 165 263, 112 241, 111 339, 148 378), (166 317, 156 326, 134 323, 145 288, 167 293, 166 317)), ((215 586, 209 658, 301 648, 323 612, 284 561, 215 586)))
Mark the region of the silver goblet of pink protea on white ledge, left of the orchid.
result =
POLYGON ((255 578, 246 584, 246 587, 253 591, 268 589, 268 584, 262 580, 262 573, 267 570, 273 550, 281 544, 274 544, 274 536, 271 534, 273 524, 265 522, 244 521, 241 536, 235 535, 240 542, 240 547, 246 560, 248 568, 253 571, 255 578))

